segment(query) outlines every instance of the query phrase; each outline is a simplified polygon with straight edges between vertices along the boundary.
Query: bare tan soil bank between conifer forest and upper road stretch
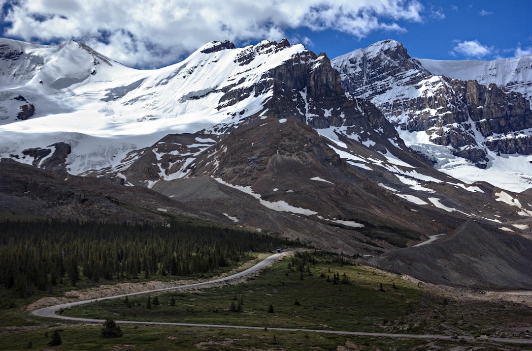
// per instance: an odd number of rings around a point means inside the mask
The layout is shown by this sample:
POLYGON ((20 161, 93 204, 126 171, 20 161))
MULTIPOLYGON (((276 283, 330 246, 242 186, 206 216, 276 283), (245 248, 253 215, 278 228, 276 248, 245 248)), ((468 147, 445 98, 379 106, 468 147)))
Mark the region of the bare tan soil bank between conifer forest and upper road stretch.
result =
MULTIPOLYGON (((252 267, 257 262, 266 258, 268 255, 269 255, 268 253, 259 254, 257 255, 257 258, 247 261, 244 264, 242 264, 242 266, 232 269, 229 272, 223 273, 222 275, 220 275, 219 278, 230 276, 236 272, 252 267)), ((197 279, 197 280, 180 279, 180 280, 171 280, 171 281, 121 282, 117 284, 99 285, 99 286, 82 289, 82 290, 70 290, 69 292, 64 293, 63 296, 59 296, 59 297, 52 297, 52 296, 43 297, 41 299, 38 299, 36 302, 31 303, 28 306, 26 306, 26 310, 33 311, 33 310, 40 309, 42 307, 59 305, 62 303, 67 303, 67 302, 85 301, 89 299, 102 298, 102 297, 107 297, 107 296, 131 294, 131 293, 145 292, 148 290, 177 287, 180 285, 194 284, 197 282, 203 282, 207 280, 208 279, 197 279)), ((243 278, 242 280, 239 280, 238 282, 243 282, 243 281, 245 281, 245 278, 243 278)), ((227 283, 226 282, 212 283, 212 285, 209 284, 203 287, 213 287, 213 286, 218 286, 218 285, 223 285, 223 284, 227 284, 227 283)))

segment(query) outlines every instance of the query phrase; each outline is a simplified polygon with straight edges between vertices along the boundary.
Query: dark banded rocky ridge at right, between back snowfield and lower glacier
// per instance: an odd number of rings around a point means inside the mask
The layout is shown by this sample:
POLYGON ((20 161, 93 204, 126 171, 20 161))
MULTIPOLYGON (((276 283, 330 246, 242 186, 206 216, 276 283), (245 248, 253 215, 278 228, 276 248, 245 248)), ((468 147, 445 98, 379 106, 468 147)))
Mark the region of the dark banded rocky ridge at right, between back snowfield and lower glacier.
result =
POLYGON ((398 129, 425 132, 430 142, 477 167, 487 166, 488 151, 532 153, 530 102, 519 92, 433 75, 394 40, 332 64, 351 95, 372 101, 398 129))

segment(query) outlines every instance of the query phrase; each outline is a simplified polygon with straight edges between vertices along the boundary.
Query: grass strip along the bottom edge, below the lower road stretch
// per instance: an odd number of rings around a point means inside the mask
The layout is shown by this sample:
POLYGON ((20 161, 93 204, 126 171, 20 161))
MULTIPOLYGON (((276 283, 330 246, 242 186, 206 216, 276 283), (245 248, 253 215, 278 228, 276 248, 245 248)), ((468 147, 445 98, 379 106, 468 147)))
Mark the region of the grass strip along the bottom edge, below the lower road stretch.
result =
MULTIPOLYGON (((321 333, 271 330, 235 330, 194 327, 121 326, 123 336, 100 337, 99 326, 59 327, 23 330, 0 334, 2 349, 54 350, 412 350, 426 349, 427 340, 350 337, 321 333), (48 347, 54 330, 60 330, 62 344, 48 347), (45 337, 47 333, 48 337, 45 337)), ((441 340, 438 345, 450 349, 469 345, 456 340, 441 340)))

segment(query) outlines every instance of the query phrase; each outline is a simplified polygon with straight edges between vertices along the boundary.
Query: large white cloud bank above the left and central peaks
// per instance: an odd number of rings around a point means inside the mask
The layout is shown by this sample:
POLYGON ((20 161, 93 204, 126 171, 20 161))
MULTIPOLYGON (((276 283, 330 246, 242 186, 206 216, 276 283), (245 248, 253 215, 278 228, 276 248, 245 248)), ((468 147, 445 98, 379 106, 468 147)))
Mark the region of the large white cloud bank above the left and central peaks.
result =
MULTIPOLYGON (((361 39, 421 22, 416 0, 0 0, 4 36, 34 42, 76 39, 138 67, 170 64, 212 40, 280 40, 286 31, 333 29, 361 39)), ((302 37, 307 44, 309 38, 302 37)))

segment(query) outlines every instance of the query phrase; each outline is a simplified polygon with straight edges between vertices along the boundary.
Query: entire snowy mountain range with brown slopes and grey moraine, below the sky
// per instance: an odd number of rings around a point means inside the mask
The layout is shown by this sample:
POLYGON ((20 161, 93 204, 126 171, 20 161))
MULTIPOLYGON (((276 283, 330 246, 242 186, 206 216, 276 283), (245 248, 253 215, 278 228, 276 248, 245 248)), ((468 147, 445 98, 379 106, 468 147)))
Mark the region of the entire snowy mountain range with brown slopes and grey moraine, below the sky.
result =
POLYGON ((5 218, 187 216, 438 284, 532 288, 532 56, 213 41, 135 70, 0 39, 0 72, 5 218))

